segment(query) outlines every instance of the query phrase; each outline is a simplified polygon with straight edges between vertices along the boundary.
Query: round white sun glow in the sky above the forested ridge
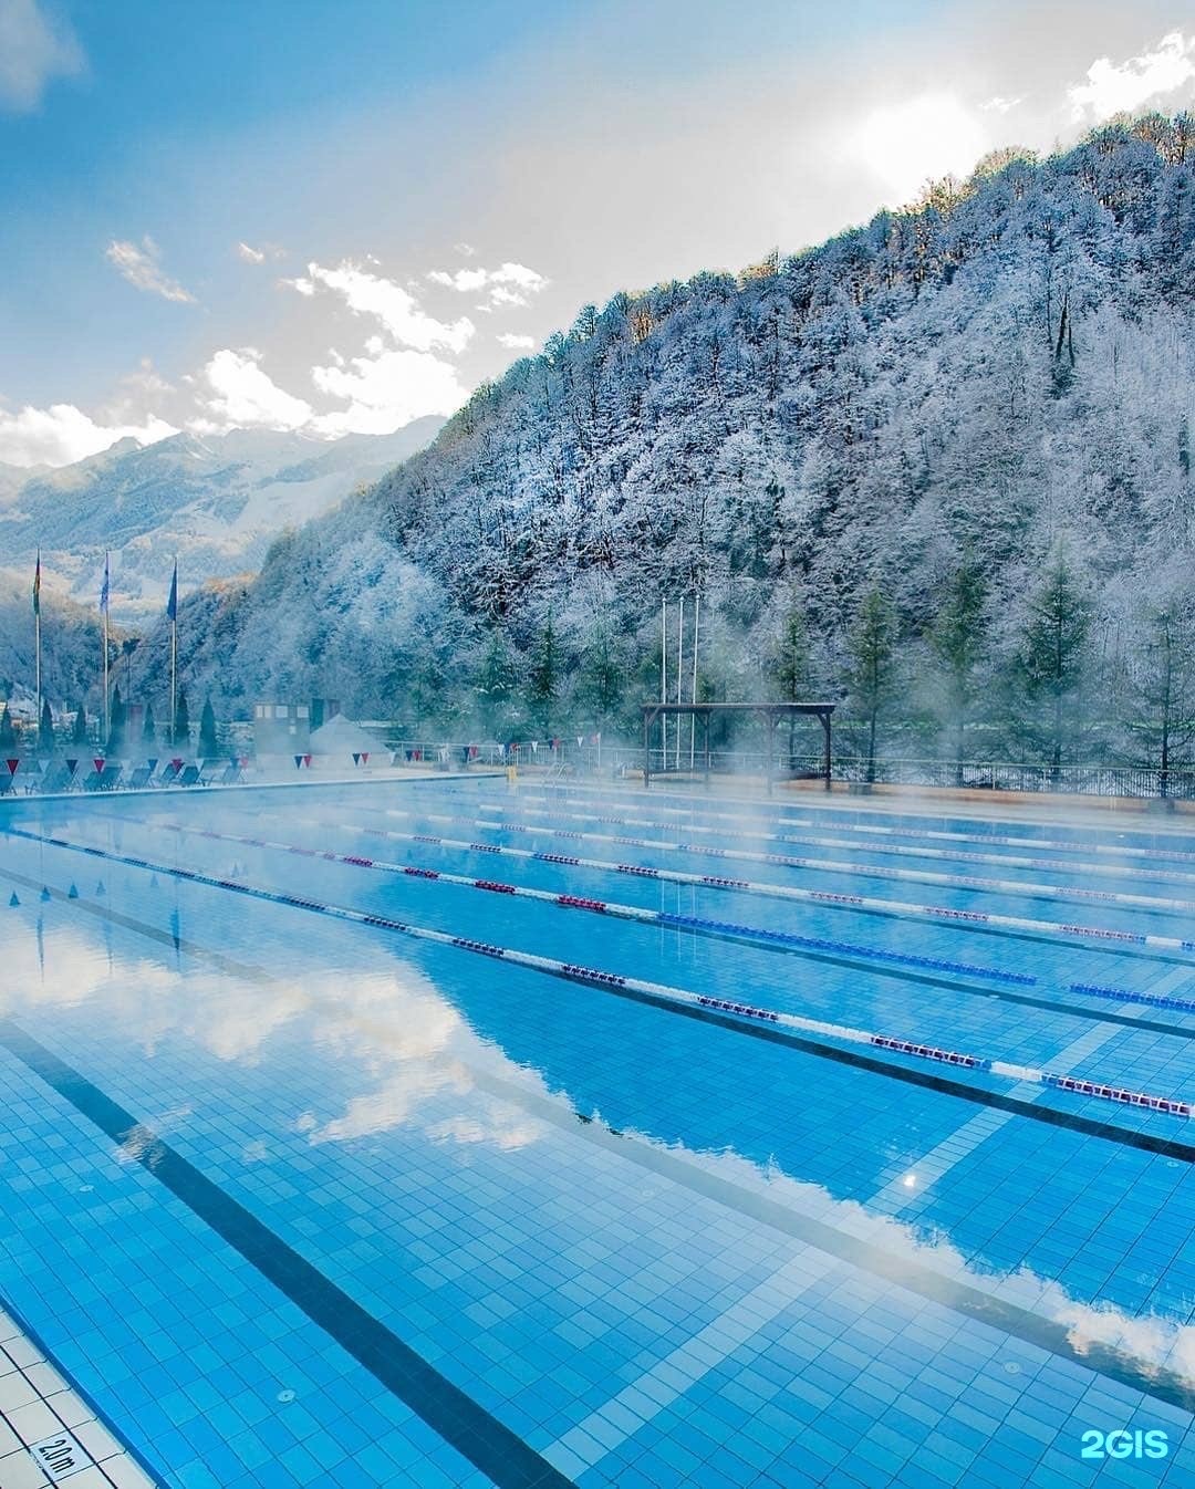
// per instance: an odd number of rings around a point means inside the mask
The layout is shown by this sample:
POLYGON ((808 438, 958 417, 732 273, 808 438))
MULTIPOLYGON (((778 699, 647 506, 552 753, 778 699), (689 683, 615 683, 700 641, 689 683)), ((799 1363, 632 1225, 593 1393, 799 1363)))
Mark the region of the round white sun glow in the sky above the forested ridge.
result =
POLYGON ((983 130, 952 94, 875 109, 849 141, 852 158, 881 179, 893 205, 912 201, 927 180, 967 176, 985 149, 983 130))

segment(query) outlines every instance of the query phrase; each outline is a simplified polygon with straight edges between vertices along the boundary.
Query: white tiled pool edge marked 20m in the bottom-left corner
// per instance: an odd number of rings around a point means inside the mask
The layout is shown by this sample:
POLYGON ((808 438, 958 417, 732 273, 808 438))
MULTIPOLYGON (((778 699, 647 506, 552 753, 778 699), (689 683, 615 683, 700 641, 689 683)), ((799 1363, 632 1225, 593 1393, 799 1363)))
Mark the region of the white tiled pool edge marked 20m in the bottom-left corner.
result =
POLYGON ((0 1485, 4 1489, 158 1489, 91 1406, 45 1358, 16 1319, 0 1309, 0 1485), (77 1467, 51 1474, 33 1452, 64 1437, 77 1467))

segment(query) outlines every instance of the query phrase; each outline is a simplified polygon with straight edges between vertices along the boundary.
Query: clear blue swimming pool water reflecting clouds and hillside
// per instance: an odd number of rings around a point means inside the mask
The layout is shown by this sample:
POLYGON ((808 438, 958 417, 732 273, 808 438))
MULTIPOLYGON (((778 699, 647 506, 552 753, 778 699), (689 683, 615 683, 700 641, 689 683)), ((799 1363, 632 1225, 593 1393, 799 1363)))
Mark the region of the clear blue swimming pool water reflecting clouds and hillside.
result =
POLYGON ((162 1485, 1195 1483, 1195 1121, 1039 1078, 1195 1097, 1195 832, 493 779, 0 810, 0 1307, 162 1485), (1120 1429, 1165 1456, 1082 1456, 1120 1429))

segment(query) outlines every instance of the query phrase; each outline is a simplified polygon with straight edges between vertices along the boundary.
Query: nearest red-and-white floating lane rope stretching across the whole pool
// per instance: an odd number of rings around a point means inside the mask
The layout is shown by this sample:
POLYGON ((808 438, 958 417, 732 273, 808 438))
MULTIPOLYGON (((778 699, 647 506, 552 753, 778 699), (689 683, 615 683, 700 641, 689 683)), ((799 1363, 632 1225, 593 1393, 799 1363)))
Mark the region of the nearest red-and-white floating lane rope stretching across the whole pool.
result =
POLYGON ((870 1045, 872 1048, 887 1050, 893 1054, 903 1054, 918 1060, 931 1060, 940 1065, 977 1071, 1009 1081, 1028 1081, 1036 1085, 1049 1085, 1056 1090, 1074 1091, 1082 1096, 1095 1096, 1101 1100, 1162 1112, 1168 1117, 1180 1117, 1183 1120, 1189 1120, 1192 1117, 1191 1102, 1179 1100, 1170 1096, 1155 1096, 1149 1091, 1134 1091, 1128 1087, 1086 1081, 1074 1075, 1058 1075, 1052 1071, 1037 1069, 1034 1066, 1015 1065, 1007 1060, 992 1060, 977 1054, 967 1054, 960 1050, 945 1050, 939 1045, 921 1044, 898 1035, 876 1033, 867 1029, 855 1029, 849 1024, 836 1024, 827 1023, 821 1018, 808 1018, 803 1014, 788 1014, 775 1008, 758 1008, 752 1004, 735 1002, 724 998, 711 998, 705 993, 696 993, 685 987, 673 987, 668 983, 651 983, 639 977, 624 977, 620 972, 606 972, 599 968, 583 966, 577 962, 562 962, 556 957, 538 956, 533 951, 516 951, 511 947, 493 946, 487 941, 474 940, 472 937, 451 935, 447 931, 432 931, 429 926, 416 926, 404 920, 392 920, 389 916, 368 914, 364 910, 352 910, 347 905, 334 905, 320 899, 308 899, 302 895, 288 895, 282 890, 264 889, 258 884, 247 884, 234 879, 219 879, 215 874, 201 874, 198 870, 192 868, 177 868, 168 864, 156 864, 152 859, 116 853, 112 849, 72 843, 69 838, 31 832, 25 828, 7 826, 3 831, 12 837, 25 838, 31 843, 42 843, 46 847, 61 847, 73 853, 86 853, 91 858, 125 864, 130 868, 140 868, 152 874, 167 874, 188 883, 207 884, 212 889, 225 889, 235 895, 244 895, 249 899, 291 905, 295 910, 310 910, 316 914, 329 916, 335 920, 347 920, 355 925, 392 931, 416 941, 429 941, 437 946, 453 946, 463 951, 487 956, 495 960, 507 962, 513 966, 526 966, 568 981, 584 983, 590 987, 618 989, 638 993, 639 996, 648 998, 656 1005, 665 1008, 669 1005, 709 1008, 723 1014, 732 1014, 733 1017, 742 1018, 748 1023, 773 1024, 802 1035, 817 1035, 821 1039, 836 1039, 843 1044, 870 1045))

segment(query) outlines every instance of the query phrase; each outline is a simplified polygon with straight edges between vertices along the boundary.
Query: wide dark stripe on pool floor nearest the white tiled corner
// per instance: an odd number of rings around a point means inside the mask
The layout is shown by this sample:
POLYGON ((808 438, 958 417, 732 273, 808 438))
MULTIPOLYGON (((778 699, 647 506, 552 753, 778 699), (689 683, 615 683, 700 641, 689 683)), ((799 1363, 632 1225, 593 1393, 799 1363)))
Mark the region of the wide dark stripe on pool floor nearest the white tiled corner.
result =
POLYGON ((313 1324, 501 1489, 569 1489, 571 1480, 453 1385, 305 1257, 188 1158, 61 1060, 0 1017, 0 1044, 216 1231, 313 1324), (137 1144, 128 1144, 131 1133, 137 1144))

